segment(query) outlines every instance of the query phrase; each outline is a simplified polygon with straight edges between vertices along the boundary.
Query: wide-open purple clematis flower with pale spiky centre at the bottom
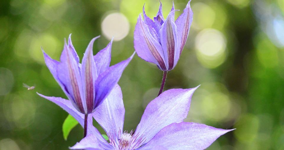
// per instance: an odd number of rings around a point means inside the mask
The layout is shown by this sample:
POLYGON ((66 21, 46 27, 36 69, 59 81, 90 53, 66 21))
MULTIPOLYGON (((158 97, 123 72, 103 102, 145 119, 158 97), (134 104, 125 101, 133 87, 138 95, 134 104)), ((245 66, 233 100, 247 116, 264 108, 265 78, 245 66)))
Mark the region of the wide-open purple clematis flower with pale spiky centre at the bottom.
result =
MULTIPOLYGON (((70 149, 85 150, 148 150, 148 149, 206 149, 218 137, 232 131, 199 123, 183 122, 188 114, 191 97, 197 89, 170 89, 152 100, 146 107, 135 132, 122 132, 125 109, 118 85, 92 113, 109 137, 107 142, 92 126, 89 115, 87 136, 70 149)), ((83 114, 70 108, 70 101, 45 97, 70 113, 83 126, 83 114)))

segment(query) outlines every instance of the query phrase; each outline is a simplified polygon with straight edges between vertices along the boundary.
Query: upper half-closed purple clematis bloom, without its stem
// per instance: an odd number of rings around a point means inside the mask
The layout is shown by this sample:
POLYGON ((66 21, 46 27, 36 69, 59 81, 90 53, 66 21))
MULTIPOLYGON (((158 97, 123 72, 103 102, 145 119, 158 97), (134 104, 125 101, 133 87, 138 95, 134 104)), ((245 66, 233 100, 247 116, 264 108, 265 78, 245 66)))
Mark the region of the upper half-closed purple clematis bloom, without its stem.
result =
POLYGON ((190 1, 176 21, 175 11, 178 10, 175 10, 173 4, 170 14, 164 20, 160 2, 159 11, 153 21, 146 15, 143 6, 144 20, 140 14, 135 26, 135 51, 139 57, 155 63, 162 71, 170 71, 178 63, 193 19, 190 1))

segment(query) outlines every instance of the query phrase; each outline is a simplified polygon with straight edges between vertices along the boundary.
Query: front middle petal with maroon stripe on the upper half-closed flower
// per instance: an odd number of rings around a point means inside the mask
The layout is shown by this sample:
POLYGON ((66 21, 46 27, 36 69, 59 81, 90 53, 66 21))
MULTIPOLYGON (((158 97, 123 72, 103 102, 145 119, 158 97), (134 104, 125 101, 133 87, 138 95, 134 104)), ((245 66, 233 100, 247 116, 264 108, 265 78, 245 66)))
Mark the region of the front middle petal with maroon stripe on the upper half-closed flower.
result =
POLYGON ((177 27, 175 25, 175 11, 173 10, 168 15, 166 21, 161 27, 160 30, 160 40, 161 45, 164 50, 165 60, 169 62, 168 71, 172 70, 175 65, 175 55, 178 53, 178 39, 177 39, 177 27))

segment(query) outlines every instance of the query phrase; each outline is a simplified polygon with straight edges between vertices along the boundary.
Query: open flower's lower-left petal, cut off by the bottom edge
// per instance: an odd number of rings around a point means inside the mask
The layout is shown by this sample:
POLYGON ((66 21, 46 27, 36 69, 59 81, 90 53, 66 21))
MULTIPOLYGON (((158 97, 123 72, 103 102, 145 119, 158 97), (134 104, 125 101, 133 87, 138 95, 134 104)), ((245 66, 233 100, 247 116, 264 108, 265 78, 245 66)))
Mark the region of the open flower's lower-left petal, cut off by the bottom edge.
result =
POLYGON ((85 150, 101 150, 101 149, 113 149, 113 147, 106 143, 100 142, 95 135, 90 134, 83 138, 80 142, 77 142, 70 149, 85 149, 85 150))

